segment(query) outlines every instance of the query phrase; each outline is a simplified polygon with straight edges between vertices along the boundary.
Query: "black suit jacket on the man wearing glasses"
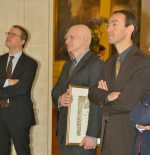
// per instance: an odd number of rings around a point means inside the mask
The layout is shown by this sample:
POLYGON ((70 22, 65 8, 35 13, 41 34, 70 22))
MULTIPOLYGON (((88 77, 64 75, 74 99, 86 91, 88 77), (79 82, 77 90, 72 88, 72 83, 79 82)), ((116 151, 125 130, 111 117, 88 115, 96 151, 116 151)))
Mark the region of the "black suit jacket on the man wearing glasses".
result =
MULTIPOLYGON (((35 78, 37 63, 22 53, 12 74, 12 79, 19 79, 19 82, 3 88, 6 80, 7 59, 8 53, 0 56, 0 98, 9 98, 8 110, 12 113, 12 117, 9 119, 14 125, 30 127, 35 124, 30 91, 35 78)), ((4 110, 5 108, 0 109, 0 113, 4 110)))

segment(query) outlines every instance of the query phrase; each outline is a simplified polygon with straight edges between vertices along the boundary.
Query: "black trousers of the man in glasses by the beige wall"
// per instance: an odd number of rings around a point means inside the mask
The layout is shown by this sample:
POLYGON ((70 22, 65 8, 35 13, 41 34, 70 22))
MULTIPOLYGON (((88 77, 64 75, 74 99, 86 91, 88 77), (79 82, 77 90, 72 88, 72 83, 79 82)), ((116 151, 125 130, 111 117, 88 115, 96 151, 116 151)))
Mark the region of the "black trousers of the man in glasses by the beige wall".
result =
POLYGON ((11 139, 17 155, 31 155, 29 132, 30 127, 18 124, 9 108, 0 109, 0 155, 10 155, 11 139))

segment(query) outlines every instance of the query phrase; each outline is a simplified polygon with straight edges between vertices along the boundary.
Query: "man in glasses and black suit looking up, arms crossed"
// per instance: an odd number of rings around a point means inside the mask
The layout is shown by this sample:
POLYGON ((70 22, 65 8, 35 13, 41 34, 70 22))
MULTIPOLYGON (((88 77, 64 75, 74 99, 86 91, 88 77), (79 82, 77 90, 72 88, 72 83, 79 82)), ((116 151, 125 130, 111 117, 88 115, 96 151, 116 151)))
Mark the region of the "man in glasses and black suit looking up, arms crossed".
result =
POLYGON ((9 53, 0 56, 0 154, 10 154, 12 139, 17 155, 31 155, 29 133, 35 118, 30 91, 37 62, 23 52, 28 40, 23 27, 14 25, 6 34, 9 53))

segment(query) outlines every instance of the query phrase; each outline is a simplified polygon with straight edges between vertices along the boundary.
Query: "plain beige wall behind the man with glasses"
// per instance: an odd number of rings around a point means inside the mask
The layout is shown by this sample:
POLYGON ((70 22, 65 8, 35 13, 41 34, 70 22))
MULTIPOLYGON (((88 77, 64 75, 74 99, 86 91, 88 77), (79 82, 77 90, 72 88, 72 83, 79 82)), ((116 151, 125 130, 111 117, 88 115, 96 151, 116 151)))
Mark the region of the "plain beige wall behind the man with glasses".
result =
POLYGON ((52 8, 52 0, 0 0, 0 54, 7 51, 5 32, 20 24, 31 33, 25 51, 39 63, 32 91, 38 120, 31 132, 33 155, 51 155, 52 8))

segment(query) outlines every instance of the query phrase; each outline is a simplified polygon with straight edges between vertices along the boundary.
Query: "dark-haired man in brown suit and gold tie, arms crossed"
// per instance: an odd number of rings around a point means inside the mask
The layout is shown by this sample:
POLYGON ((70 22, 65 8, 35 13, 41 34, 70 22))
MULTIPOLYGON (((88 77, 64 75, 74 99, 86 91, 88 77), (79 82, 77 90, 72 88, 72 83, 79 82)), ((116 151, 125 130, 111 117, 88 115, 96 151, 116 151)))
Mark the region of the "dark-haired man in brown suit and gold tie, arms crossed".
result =
POLYGON ((131 153, 134 129, 129 112, 150 82, 150 59, 133 44, 137 25, 129 11, 112 14, 107 32, 117 54, 107 60, 98 85, 89 92, 92 103, 102 104, 102 155, 131 153))

